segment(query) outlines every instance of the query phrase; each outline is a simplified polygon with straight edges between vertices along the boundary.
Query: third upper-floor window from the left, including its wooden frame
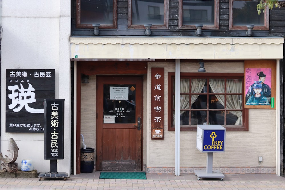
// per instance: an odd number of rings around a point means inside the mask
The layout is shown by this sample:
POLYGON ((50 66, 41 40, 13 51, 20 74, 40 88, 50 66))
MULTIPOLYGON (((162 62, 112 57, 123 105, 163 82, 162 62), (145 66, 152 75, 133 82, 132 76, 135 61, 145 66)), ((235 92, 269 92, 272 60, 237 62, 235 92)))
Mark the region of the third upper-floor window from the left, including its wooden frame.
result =
POLYGON ((179 28, 219 29, 219 0, 179 0, 179 28))

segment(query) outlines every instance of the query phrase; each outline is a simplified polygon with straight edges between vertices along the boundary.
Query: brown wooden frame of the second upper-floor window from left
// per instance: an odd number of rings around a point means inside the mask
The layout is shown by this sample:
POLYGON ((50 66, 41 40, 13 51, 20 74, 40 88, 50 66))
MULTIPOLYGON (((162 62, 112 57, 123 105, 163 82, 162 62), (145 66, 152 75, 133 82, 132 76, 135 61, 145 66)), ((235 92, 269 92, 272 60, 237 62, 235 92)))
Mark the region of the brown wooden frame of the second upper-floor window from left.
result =
MULTIPOLYGON (((132 24, 132 0, 128 0, 128 28, 145 29, 144 24, 132 24)), ((164 0, 164 25, 152 25, 151 29, 168 29, 168 0, 164 0)))

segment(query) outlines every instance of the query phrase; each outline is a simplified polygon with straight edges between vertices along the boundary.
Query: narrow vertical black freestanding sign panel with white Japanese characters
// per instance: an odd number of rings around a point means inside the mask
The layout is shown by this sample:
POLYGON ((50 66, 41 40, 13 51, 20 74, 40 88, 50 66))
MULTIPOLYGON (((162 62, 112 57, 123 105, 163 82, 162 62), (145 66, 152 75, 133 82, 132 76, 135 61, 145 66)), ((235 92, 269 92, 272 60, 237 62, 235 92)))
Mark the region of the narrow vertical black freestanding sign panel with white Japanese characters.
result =
POLYGON ((64 159, 64 99, 44 100, 44 160, 64 159))

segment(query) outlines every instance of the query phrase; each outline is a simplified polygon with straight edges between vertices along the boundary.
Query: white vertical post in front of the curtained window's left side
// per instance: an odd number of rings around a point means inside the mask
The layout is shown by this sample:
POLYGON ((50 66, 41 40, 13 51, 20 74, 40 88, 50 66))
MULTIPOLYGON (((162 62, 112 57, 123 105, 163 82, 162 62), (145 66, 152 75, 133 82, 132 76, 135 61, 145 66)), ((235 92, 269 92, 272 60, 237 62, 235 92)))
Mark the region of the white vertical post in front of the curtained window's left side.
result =
POLYGON ((175 60, 175 175, 180 175, 180 60, 175 60))

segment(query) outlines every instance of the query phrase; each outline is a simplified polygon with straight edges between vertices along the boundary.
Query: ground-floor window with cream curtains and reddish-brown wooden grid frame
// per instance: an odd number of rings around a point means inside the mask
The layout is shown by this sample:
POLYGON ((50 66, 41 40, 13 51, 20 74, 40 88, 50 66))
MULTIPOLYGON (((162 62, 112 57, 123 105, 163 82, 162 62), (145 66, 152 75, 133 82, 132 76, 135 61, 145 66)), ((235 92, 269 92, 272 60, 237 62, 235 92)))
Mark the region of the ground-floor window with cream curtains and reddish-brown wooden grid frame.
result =
MULTIPOLYGON (((175 130, 175 74, 169 73, 168 80, 168 130, 175 130)), ((247 131, 243 83, 243 73, 181 73, 180 130, 217 124, 229 131, 247 131)))

